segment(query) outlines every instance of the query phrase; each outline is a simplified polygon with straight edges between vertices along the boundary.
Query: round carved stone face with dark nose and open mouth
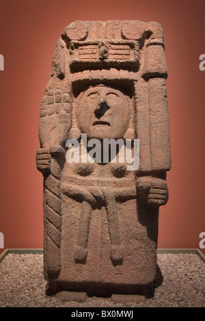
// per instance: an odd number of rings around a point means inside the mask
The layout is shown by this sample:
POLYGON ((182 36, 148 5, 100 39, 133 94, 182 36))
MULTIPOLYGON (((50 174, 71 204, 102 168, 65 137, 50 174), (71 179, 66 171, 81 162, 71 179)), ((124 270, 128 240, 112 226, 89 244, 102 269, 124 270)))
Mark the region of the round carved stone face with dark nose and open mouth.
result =
POLYGON ((79 107, 79 129, 89 138, 123 138, 128 127, 128 101, 120 90, 87 89, 79 107))

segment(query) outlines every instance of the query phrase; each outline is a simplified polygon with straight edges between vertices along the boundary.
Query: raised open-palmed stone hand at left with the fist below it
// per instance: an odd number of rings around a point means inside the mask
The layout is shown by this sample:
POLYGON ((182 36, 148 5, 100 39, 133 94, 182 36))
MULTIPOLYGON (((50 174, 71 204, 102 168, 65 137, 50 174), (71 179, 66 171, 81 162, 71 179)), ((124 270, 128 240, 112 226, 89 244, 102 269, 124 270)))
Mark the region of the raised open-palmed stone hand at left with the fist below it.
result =
POLYGON ((70 97, 61 90, 49 90, 40 107, 40 146, 36 166, 43 174, 51 170, 51 157, 64 157, 70 129, 70 97))

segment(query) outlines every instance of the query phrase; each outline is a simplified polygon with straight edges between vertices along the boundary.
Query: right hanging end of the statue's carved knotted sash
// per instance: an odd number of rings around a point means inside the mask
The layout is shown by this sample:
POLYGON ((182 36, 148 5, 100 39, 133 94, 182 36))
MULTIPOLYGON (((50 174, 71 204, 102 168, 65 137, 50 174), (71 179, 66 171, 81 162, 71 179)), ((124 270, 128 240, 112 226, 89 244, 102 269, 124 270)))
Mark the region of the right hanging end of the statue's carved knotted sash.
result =
POLYGON ((123 260, 123 248, 120 239, 117 204, 111 190, 103 190, 102 192, 105 198, 105 208, 107 211, 109 237, 111 242, 111 261, 113 262, 113 265, 120 265, 123 260))

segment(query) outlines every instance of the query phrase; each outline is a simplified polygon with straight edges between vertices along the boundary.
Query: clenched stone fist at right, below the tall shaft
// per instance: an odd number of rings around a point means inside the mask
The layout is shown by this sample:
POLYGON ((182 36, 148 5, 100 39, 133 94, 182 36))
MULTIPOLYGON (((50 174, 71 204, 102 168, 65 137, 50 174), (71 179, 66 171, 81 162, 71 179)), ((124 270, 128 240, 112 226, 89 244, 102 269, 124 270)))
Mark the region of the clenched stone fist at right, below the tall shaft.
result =
POLYGON ((156 177, 139 177, 137 193, 145 203, 153 207, 165 205, 168 200, 167 183, 156 177))

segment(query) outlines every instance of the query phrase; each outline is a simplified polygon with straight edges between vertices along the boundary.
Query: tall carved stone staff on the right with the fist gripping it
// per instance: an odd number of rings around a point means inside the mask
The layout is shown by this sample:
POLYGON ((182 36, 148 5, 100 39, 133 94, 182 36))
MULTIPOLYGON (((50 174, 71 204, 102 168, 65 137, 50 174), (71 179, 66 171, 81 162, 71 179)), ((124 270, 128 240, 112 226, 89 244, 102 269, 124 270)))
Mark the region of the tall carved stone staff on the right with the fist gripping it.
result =
MULTIPOLYGON (((137 174, 137 193, 141 199, 152 206, 165 205, 168 199, 166 172, 171 168, 169 142, 169 114, 167 110, 167 92, 165 79, 167 66, 165 61, 163 30, 158 23, 147 23, 146 31, 150 38, 144 51, 141 86, 146 94, 147 105, 140 105, 139 144, 141 143, 141 164, 137 174), (146 125, 146 126, 144 126, 146 125), (140 127, 141 126, 141 127, 140 127), (143 129, 146 128, 146 134, 143 129), (145 138, 146 137, 146 140, 145 138)), ((138 92, 141 90, 139 87, 138 92)))

